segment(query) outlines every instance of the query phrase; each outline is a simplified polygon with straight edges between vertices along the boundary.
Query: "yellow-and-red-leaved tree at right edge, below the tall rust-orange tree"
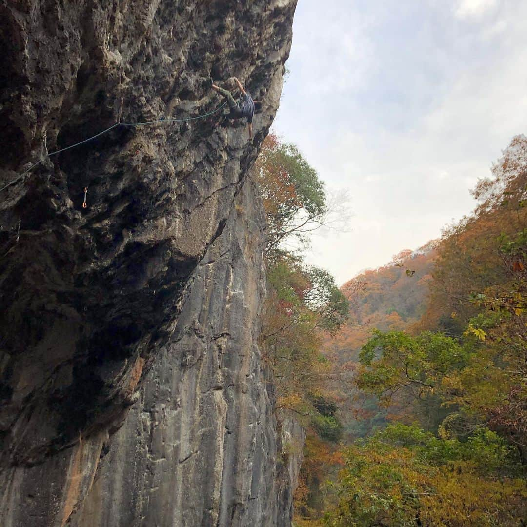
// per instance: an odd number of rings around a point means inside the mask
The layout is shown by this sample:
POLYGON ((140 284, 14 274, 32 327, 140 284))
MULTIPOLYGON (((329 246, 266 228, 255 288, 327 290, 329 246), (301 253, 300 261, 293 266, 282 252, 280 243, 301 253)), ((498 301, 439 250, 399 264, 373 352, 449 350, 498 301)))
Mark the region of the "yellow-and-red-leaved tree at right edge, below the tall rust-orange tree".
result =
POLYGON ((467 413, 519 447, 527 461, 527 231, 503 237, 504 279, 474 295, 480 313, 464 333, 477 346, 466 370, 450 379, 467 413))

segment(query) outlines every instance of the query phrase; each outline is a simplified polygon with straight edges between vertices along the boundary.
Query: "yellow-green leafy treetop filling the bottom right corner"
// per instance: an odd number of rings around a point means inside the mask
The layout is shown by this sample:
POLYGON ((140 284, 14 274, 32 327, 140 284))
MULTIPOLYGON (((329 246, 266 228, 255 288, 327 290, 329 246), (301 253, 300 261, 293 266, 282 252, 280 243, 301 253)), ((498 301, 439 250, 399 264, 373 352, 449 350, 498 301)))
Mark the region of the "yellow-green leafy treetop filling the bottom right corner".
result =
POLYGON ((331 527, 512 526, 527 513, 518 460, 490 431, 460 442, 395 424, 344 457, 331 527))

